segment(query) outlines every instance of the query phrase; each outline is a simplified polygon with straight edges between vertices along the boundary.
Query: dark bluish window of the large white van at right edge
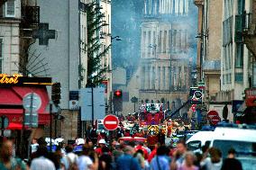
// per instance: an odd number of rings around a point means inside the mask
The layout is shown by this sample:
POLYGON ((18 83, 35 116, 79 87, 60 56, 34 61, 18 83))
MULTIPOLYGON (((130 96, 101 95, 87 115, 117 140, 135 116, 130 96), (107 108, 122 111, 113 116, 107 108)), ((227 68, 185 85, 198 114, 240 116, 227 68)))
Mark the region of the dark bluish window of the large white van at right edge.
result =
POLYGON ((256 152, 256 142, 249 141, 214 140, 213 147, 221 149, 223 157, 227 156, 230 148, 234 148, 241 155, 256 152))

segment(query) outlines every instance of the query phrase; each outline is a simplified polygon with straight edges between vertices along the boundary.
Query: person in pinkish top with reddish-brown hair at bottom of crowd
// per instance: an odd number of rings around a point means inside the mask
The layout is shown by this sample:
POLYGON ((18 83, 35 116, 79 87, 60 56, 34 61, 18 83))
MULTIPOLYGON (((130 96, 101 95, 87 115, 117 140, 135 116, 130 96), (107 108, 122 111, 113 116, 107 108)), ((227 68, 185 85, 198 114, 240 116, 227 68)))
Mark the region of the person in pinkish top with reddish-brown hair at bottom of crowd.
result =
POLYGON ((197 157, 193 152, 187 151, 185 153, 185 161, 183 161, 182 165, 178 167, 178 170, 198 170, 199 168, 194 165, 197 157))

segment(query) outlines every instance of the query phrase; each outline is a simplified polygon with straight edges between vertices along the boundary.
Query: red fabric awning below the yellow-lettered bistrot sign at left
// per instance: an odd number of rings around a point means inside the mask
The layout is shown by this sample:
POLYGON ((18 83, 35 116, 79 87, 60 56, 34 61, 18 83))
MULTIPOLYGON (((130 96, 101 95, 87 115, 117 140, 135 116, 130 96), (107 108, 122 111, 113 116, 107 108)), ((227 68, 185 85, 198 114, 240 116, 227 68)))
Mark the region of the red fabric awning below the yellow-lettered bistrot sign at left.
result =
MULTIPOLYGON (((29 93, 39 94, 41 108, 38 110, 39 124, 49 124, 50 114, 46 111, 49 96, 45 86, 12 86, 0 88, 1 104, 23 104, 23 96, 29 93)), ((9 122, 23 123, 23 109, 0 109, 0 116, 5 115, 9 122)))

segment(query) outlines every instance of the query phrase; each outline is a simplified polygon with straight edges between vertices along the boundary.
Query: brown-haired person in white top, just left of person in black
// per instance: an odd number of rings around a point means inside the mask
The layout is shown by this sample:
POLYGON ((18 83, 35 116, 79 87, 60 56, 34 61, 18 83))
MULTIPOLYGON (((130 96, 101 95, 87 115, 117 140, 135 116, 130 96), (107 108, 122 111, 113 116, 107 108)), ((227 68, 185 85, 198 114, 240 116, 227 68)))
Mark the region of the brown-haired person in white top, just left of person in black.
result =
POLYGON ((220 170, 222 162, 222 152, 218 148, 209 148, 208 151, 210 157, 206 157, 200 163, 200 166, 206 166, 206 170, 220 170))

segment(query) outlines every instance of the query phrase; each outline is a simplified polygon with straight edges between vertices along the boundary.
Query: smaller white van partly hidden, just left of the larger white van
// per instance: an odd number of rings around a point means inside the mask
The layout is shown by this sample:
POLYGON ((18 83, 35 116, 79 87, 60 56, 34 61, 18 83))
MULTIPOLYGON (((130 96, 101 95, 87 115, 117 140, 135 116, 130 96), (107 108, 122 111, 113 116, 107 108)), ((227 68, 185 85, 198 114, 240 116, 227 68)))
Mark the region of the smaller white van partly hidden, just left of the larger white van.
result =
POLYGON ((194 152, 201 152, 201 148, 205 145, 209 146, 213 139, 214 131, 198 131, 190 139, 187 140, 187 148, 194 152))

